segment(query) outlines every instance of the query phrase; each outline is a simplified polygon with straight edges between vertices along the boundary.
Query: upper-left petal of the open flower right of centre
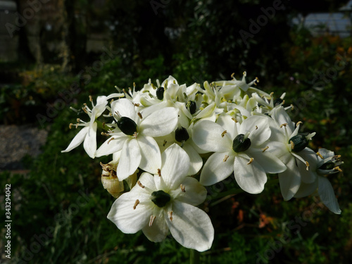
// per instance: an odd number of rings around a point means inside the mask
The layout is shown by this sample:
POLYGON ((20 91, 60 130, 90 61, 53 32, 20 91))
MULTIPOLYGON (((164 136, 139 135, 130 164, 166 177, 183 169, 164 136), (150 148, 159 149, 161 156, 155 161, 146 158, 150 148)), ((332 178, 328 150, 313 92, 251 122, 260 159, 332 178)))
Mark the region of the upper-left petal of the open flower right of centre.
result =
POLYGON ((225 152, 232 150, 232 139, 222 133, 223 127, 210 120, 201 120, 194 125, 193 141, 199 148, 206 151, 225 152))

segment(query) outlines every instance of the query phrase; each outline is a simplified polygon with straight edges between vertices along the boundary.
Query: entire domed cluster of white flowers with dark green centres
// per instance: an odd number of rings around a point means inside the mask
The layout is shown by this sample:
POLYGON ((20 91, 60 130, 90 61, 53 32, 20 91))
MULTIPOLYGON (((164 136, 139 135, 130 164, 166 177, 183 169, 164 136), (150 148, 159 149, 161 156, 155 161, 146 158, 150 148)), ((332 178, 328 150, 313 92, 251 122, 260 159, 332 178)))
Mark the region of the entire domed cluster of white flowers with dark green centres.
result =
POLYGON ((196 206, 206 199, 204 186, 232 173, 250 194, 263 191, 267 174, 275 173, 285 200, 318 194, 341 213, 325 177, 341 171, 339 156, 309 149, 315 133, 299 133, 301 122, 289 118, 284 94, 274 99, 251 87, 256 82, 247 83, 244 73, 242 80, 201 88, 170 76, 139 91, 99 96, 92 109, 84 106, 90 120, 77 120, 83 128, 63 152, 83 142, 91 158, 112 154, 101 164, 103 186, 117 198, 108 219, 125 233, 142 230, 151 241, 163 241, 170 230, 182 246, 210 249, 213 225, 196 206), (100 122, 101 115, 109 122, 100 122), (98 149, 97 127, 108 136, 98 149))

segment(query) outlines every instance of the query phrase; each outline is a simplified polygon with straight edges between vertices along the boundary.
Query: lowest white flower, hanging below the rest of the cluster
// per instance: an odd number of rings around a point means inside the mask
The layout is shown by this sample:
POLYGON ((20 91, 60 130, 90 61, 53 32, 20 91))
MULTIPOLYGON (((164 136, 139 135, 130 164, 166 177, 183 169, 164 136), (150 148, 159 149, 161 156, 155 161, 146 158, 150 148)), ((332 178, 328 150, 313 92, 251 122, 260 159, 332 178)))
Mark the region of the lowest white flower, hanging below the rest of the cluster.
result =
POLYGON ((163 241, 170 230, 182 246, 197 251, 210 249, 214 229, 208 215, 197 205, 206 199, 206 189, 186 177, 189 158, 173 144, 162 154, 159 173, 144 172, 131 191, 122 194, 108 213, 108 219, 124 233, 142 230, 155 242, 163 241))

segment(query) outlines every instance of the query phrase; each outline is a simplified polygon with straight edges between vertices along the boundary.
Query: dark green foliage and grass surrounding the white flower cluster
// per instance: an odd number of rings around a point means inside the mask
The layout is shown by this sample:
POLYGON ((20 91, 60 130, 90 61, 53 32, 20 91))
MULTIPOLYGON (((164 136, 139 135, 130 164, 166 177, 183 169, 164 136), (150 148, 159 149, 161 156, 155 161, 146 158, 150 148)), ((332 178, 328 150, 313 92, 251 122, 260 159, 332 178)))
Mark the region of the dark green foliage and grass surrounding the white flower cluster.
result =
MULTIPOLYGON (((73 3, 73 8, 87 8, 84 1, 73 3)), ((89 103, 89 95, 115 92, 115 85, 127 89, 135 82, 142 87, 149 78, 173 75, 180 83, 202 84, 229 79, 233 72, 241 78, 244 70, 248 80, 259 77, 258 87, 265 92, 286 92, 285 106, 294 105, 293 120, 303 121, 306 132, 317 132, 311 148, 325 147, 342 155, 344 172, 329 177, 342 213, 334 215, 313 196, 283 201, 278 184, 255 196, 241 193, 216 199, 220 190, 236 187, 230 178, 208 190, 203 209, 213 221, 215 241, 210 251, 201 253, 201 263, 351 263, 351 38, 313 37, 304 27, 289 25, 299 8, 287 4, 248 39, 249 45, 244 44, 239 30, 247 30, 249 18, 271 4, 170 1, 156 15, 148 1, 108 1, 110 8, 103 14, 109 21, 120 21, 112 32, 119 54, 88 83, 78 73, 99 54, 76 57, 69 71, 58 65, 14 65, 22 81, 1 88, 1 118, 18 125, 36 122, 49 130, 49 137, 39 157, 23 161, 29 173, 1 173, 1 186, 11 184, 12 191, 10 263, 187 262, 189 251, 172 237, 154 244, 142 232, 123 234, 106 219, 114 199, 102 188, 99 162, 108 158, 92 160, 82 146, 61 153, 76 134, 68 124, 82 118, 69 106, 78 109, 89 103), (165 28, 180 34, 170 37, 165 28), (336 63, 341 66, 337 75, 326 77, 336 63), (80 92, 48 117, 48 109, 58 107, 58 92, 68 91, 72 84, 80 92)), ((98 11, 88 9, 101 18, 98 11)), ((80 25, 75 27, 82 31, 80 25)), ((74 48, 71 51, 79 46, 74 48)), ((5 215, 2 207, 0 214, 5 215)))

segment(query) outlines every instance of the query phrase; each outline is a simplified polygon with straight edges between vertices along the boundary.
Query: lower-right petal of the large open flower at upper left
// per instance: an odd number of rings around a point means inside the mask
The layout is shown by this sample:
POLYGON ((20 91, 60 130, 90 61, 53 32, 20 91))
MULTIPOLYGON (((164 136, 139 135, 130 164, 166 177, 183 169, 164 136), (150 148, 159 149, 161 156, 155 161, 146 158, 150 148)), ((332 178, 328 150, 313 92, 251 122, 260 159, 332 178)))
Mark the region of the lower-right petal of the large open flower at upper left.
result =
POLYGON ((140 134, 137 142, 142 155, 139 168, 153 174, 157 173, 158 168, 161 168, 161 153, 155 139, 140 134))

